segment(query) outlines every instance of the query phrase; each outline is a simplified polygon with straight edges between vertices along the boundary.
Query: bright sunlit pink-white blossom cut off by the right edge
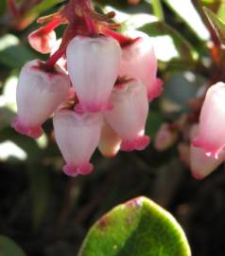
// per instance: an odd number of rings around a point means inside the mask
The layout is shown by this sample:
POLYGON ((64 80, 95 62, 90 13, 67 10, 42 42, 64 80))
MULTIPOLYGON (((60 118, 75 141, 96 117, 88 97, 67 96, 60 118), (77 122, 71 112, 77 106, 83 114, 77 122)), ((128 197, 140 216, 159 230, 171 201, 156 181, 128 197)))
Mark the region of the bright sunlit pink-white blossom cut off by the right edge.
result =
POLYGON ((206 94, 199 117, 199 136, 193 145, 201 148, 208 156, 218 158, 225 146, 225 83, 217 82, 206 94))

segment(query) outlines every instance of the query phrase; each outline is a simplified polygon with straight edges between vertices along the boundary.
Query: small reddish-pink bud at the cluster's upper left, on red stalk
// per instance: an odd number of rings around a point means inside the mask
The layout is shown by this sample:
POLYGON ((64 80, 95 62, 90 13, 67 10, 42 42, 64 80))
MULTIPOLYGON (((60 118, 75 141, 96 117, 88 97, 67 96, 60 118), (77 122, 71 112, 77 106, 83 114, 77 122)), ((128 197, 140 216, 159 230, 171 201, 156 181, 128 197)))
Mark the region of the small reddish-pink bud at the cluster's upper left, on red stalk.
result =
POLYGON ((28 36, 29 45, 43 54, 49 53, 51 48, 56 44, 56 33, 54 30, 45 32, 41 27, 28 36))

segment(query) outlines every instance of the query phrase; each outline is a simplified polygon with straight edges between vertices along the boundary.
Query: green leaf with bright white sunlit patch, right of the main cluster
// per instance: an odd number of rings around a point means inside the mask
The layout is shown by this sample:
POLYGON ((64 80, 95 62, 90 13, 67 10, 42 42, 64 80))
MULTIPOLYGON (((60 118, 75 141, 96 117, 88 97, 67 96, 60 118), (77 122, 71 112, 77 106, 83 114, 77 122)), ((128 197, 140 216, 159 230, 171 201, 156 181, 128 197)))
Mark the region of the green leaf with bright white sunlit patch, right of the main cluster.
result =
POLYGON ((198 59, 194 47, 177 30, 162 21, 149 23, 138 30, 152 37, 157 58, 162 62, 182 59, 191 64, 198 59))

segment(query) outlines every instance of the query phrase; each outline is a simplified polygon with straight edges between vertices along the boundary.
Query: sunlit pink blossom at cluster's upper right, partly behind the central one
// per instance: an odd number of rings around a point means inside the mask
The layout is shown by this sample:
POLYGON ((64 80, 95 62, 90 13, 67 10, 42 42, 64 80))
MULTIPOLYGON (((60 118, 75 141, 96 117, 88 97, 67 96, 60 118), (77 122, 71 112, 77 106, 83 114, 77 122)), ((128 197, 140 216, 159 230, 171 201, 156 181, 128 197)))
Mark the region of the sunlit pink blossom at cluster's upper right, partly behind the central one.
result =
POLYGON ((122 48, 119 75, 141 80, 147 87, 148 101, 152 101, 162 94, 163 82, 156 78, 157 59, 151 39, 137 30, 130 31, 128 35, 137 39, 122 48))

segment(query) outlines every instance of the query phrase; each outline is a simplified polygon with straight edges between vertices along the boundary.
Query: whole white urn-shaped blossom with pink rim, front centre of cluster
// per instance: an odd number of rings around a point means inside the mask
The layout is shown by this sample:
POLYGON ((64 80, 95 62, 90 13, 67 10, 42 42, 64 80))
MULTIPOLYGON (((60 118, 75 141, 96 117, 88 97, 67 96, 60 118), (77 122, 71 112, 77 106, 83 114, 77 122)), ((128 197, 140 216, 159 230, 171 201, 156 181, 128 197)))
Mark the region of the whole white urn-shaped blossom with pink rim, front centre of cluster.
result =
POLYGON ((78 95, 78 112, 109 109, 118 75, 120 46, 110 37, 75 37, 67 47, 67 67, 78 95))

